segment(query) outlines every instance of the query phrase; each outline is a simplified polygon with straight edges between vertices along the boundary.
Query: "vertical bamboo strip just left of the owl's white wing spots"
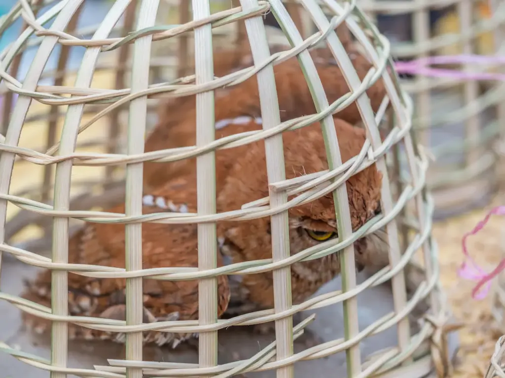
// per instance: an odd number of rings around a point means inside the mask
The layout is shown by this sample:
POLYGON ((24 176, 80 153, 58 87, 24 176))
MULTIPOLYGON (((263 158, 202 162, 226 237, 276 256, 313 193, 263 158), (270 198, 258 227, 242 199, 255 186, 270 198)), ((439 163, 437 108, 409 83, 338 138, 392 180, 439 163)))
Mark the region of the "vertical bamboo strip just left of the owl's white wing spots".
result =
MULTIPOLYGON (((138 14, 136 30, 153 26, 156 22, 159 0, 143 0, 138 14)), ((153 36, 138 38, 133 47, 131 70, 131 93, 143 91, 149 86, 149 56, 153 36), (147 57, 147 58, 146 58, 147 57)), ((128 120, 128 155, 144 152, 144 134, 147 116, 147 96, 130 102, 128 120)), ((125 214, 142 214, 142 163, 126 166, 126 202, 125 214)), ((142 224, 125 225, 125 268, 126 271, 142 269, 142 224)), ((126 279, 126 324, 142 324, 142 278, 126 279)), ((142 332, 126 334, 126 359, 142 360, 142 332)), ((142 369, 126 368, 126 378, 142 378, 142 369)))

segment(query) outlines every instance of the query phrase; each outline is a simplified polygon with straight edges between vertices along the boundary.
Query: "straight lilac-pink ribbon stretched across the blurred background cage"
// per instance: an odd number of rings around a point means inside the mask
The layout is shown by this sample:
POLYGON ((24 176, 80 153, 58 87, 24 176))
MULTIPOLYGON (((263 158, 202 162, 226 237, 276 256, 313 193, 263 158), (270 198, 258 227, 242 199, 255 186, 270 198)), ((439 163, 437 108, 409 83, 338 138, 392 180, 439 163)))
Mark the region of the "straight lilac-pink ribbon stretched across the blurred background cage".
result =
POLYGON ((399 74, 414 74, 436 78, 453 78, 459 80, 497 80, 505 81, 505 75, 492 72, 464 72, 459 70, 447 70, 431 68, 432 65, 448 64, 474 64, 474 65, 503 65, 505 56, 485 55, 440 55, 428 56, 410 61, 396 61, 394 66, 399 74))

